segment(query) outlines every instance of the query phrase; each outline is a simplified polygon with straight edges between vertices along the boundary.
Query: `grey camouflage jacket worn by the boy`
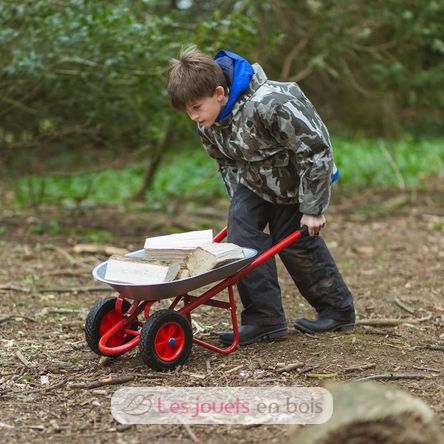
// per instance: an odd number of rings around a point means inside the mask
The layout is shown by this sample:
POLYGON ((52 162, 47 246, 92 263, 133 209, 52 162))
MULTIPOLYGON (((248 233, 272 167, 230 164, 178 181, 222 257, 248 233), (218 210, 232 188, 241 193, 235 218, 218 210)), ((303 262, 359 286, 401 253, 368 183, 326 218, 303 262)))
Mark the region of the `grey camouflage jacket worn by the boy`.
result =
POLYGON ((253 68, 230 115, 209 128, 198 124, 203 146, 230 197, 240 183, 268 202, 322 214, 334 166, 328 130, 296 83, 267 80, 260 65, 253 68))

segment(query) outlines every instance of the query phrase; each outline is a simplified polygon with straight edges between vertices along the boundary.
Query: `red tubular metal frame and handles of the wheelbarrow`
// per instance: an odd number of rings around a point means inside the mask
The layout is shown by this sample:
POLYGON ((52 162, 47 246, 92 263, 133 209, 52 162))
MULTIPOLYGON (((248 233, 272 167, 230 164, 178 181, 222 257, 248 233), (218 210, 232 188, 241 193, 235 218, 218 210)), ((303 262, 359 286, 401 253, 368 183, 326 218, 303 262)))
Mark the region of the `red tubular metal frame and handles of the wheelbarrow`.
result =
MULTIPOLYGON (((227 231, 228 229, 227 227, 225 227, 214 237, 213 241, 214 242, 222 241, 227 236, 227 231)), ((282 239, 276 245, 273 245, 269 250, 264 251, 262 254, 253 259, 253 261, 250 262, 248 265, 241 268, 238 272, 236 272, 232 276, 229 276, 228 278, 219 282, 214 287, 210 288, 205 293, 203 293, 201 296, 191 296, 189 294, 177 296, 169 306, 169 309, 175 309, 176 306, 179 304, 179 302, 183 300, 184 303, 183 307, 177 311, 185 315, 190 323, 191 323, 191 312, 200 305, 210 305, 212 307, 218 307, 229 310, 231 312, 231 323, 234 332, 233 343, 230 346, 226 348, 221 348, 213 344, 210 344, 208 342, 205 342, 202 339, 194 337, 193 337, 193 342, 218 353, 222 354, 231 353, 239 345, 239 329, 237 324, 236 300, 234 296, 233 286, 236 285, 250 271, 254 270, 256 267, 259 267, 265 261, 267 261, 274 255, 279 253, 284 248, 288 247, 296 240, 300 239, 303 236, 306 236, 307 234, 308 234, 307 227, 304 226, 301 229, 293 232, 286 238, 282 239), (213 299, 214 296, 216 296, 218 293, 220 293, 225 289, 228 289, 229 302, 213 299)), ((151 306, 155 302, 158 302, 157 300, 155 301, 134 300, 128 311, 123 313, 122 305, 124 300, 125 297, 119 295, 119 297, 116 299, 116 305, 115 305, 116 314, 123 319, 118 321, 113 327, 107 330, 99 340, 98 348, 104 355, 119 356, 137 347, 140 339, 140 331, 132 330, 128 328, 128 326, 134 325, 134 323, 137 323, 139 326, 143 325, 142 322, 137 320, 137 317, 139 316, 140 313, 144 312, 145 319, 148 319, 151 306), (109 340, 118 332, 133 336, 133 338, 127 343, 122 345, 118 346, 107 345, 109 340)))

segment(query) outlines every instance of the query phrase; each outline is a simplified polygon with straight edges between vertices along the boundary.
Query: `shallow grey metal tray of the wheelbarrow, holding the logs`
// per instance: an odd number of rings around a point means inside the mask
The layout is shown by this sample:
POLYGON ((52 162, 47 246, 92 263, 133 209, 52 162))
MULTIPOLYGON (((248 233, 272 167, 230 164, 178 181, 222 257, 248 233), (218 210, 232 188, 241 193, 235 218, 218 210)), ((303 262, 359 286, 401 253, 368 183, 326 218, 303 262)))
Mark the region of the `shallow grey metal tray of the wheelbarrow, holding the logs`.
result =
MULTIPOLYGON (((189 291, 196 290, 214 282, 222 281, 223 279, 233 275, 241 268, 248 265, 257 255, 257 251, 251 248, 243 248, 243 250, 245 255, 244 259, 231 262, 227 265, 222 265, 219 268, 215 268, 214 270, 199 274, 197 276, 191 276, 161 284, 140 285, 106 280, 105 273, 106 267, 108 266, 108 261, 97 265, 92 274, 94 279, 110 285, 112 288, 114 288, 114 290, 119 292, 127 299, 157 301, 159 299, 174 298, 179 295, 184 295, 189 291)), ((127 256, 136 257, 143 257, 143 255, 144 250, 133 251, 132 253, 127 254, 127 256)))

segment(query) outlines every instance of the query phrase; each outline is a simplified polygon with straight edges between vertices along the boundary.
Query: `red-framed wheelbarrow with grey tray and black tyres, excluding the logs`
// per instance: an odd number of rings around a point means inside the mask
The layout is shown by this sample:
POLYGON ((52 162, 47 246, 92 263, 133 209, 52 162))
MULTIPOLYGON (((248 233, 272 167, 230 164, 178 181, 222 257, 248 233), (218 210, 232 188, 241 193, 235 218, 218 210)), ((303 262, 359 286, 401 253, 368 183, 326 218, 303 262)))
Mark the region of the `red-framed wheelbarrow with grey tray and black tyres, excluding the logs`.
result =
MULTIPOLYGON (((93 352, 103 356, 120 356, 139 346, 144 363, 159 371, 182 365, 193 343, 217 353, 231 353, 239 345, 234 285, 251 270, 307 234, 307 227, 304 226, 259 255, 256 250, 243 248, 243 259, 197 276, 160 284, 132 285, 106 280, 104 276, 108 262, 103 262, 94 268, 93 276, 110 285, 119 295, 99 300, 91 308, 85 322, 86 342, 93 352), (211 284, 214 286, 200 296, 189 294, 211 284), (228 302, 215 299, 225 289, 228 289, 228 302), (167 309, 150 313, 156 302, 172 298, 167 309), (201 305, 230 312, 234 332, 231 345, 221 348, 193 337, 191 316, 193 310, 201 305), (139 320, 142 313, 144 322, 139 320)), ((215 236, 214 242, 221 242, 226 235, 227 227, 215 236)), ((143 257, 144 250, 128 255, 143 257)))

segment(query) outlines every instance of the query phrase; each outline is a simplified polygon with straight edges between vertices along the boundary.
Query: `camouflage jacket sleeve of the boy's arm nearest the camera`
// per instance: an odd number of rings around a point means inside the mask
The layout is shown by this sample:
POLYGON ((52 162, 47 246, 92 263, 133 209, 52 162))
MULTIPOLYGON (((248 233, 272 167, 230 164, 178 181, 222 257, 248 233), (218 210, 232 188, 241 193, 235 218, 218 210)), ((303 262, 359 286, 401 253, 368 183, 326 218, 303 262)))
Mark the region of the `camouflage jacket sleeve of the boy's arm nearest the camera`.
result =
POLYGON ((295 155, 301 213, 324 213, 330 202, 333 149, 313 105, 306 99, 267 106, 264 124, 271 136, 295 155))

